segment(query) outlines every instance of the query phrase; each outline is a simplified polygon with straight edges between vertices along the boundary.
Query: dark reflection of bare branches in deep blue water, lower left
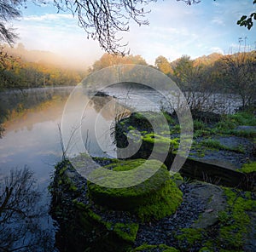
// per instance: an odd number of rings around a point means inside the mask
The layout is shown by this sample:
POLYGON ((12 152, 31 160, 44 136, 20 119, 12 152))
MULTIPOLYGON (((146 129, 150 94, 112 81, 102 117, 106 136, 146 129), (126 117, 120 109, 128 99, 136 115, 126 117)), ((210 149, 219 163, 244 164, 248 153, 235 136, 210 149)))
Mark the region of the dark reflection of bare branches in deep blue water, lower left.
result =
POLYGON ((0 250, 54 251, 47 210, 40 206, 32 170, 12 169, 0 180, 0 250))

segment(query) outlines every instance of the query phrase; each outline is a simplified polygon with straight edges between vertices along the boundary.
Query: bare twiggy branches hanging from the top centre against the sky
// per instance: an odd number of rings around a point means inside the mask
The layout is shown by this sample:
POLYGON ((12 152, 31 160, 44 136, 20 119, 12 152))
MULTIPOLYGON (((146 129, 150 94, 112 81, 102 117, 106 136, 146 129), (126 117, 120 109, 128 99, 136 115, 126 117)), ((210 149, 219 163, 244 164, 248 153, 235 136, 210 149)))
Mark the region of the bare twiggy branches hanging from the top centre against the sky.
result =
POLYGON ((88 38, 98 40, 102 49, 111 54, 127 53, 127 43, 121 43, 122 37, 117 37, 119 31, 129 31, 130 20, 139 26, 148 25, 145 20, 145 6, 154 0, 55 0, 59 10, 71 10, 77 15, 79 26, 84 28, 88 38))

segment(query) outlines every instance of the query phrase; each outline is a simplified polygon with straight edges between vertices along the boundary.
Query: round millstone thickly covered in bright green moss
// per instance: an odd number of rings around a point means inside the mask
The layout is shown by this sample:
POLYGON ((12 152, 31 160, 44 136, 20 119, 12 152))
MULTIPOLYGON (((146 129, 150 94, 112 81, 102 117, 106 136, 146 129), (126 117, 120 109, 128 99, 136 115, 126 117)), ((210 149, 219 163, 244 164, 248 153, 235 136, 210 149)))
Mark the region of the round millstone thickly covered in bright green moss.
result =
MULTIPOLYGON (((143 163, 143 159, 119 161, 105 166, 105 169, 118 172, 141 167, 144 169, 143 163)), ((135 213, 143 221, 151 218, 159 220, 166 215, 172 215, 182 202, 182 192, 171 179, 164 164, 157 160, 148 160, 147 166, 148 169, 160 168, 156 169, 154 175, 135 186, 110 188, 87 181, 90 198, 101 206, 135 213)), ((129 179, 131 178, 127 175, 126 180, 129 179)))

